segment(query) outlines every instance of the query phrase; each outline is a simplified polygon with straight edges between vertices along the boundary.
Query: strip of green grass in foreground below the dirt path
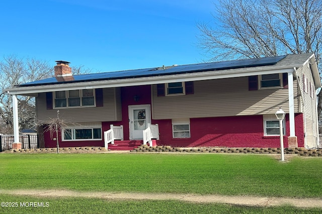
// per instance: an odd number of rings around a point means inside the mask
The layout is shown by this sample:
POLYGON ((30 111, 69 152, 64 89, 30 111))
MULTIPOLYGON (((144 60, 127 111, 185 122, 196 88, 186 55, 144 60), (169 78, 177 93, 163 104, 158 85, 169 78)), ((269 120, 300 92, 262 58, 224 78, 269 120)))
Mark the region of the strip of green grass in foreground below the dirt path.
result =
POLYGON ((131 213, 131 214, 179 214, 179 213, 321 213, 319 208, 295 208, 290 206, 279 207, 249 207, 249 206, 233 206, 228 204, 213 204, 213 203, 189 203, 175 200, 104 200, 104 199, 90 199, 90 198, 37 198, 31 196, 12 196, 1 195, 0 201, 17 202, 17 207, 0 207, 0 213, 131 213), (32 207, 30 204, 36 206, 38 202, 44 204, 43 207, 32 207), (28 206, 27 206, 28 205, 28 206))

